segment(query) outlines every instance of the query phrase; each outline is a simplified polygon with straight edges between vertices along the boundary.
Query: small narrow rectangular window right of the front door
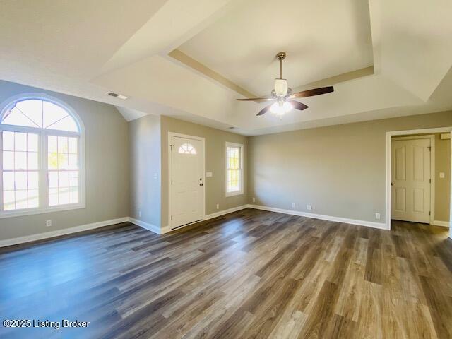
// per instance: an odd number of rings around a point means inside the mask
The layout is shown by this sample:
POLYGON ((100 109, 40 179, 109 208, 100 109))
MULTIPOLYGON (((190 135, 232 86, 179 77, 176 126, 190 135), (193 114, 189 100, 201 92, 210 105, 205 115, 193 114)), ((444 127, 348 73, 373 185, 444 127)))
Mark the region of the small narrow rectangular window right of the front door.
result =
POLYGON ((226 196, 243 194, 243 145, 226 143, 226 196))

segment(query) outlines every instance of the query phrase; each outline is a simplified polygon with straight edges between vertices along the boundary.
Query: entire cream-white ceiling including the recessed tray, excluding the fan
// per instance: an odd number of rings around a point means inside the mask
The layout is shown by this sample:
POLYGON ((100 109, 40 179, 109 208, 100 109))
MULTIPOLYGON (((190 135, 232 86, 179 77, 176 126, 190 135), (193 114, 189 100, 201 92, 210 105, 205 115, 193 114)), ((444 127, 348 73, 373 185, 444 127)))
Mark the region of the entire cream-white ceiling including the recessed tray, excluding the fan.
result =
POLYGON ((436 112, 452 108, 451 13, 448 0, 2 1, 0 79, 108 102, 127 120, 173 115, 246 135, 436 112), (169 57, 175 48, 256 95, 285 50, 292 88, 335 92, 282 120, 256 117, 265 104, 237 102, 225 81, 169 57))

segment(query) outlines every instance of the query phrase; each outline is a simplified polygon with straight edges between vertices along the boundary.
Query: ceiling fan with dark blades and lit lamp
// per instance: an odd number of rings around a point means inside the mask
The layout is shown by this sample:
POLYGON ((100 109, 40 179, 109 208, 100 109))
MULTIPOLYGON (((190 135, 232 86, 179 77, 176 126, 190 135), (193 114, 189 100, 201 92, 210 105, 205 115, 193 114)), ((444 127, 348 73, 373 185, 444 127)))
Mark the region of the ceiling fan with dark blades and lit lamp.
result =
POLYGON ((283 60, 285 59, 285 52, 279 52, 276 54, 276 59, 280 61, 280 77, 275 79, 275 88, 271 91, 271 95, 268 97, 250 97, 247 99, 237 99, 239 101, 275 101, 273 104, 268 105, 261 109, 256 115, 263 115, 270 109, 270 112, 275 113, 279 117, 283 114, 290 112, 292 109, 307 109, 307 105, 302 102, 294 100, 296 97, 313 97, 314 95, 321 95, 331 93, 334 91, 333 86, 314 88, 312 90, 303 90, 302 92, 292 93, 292 88, 287 86, 287 80, 283 78, 283 60))

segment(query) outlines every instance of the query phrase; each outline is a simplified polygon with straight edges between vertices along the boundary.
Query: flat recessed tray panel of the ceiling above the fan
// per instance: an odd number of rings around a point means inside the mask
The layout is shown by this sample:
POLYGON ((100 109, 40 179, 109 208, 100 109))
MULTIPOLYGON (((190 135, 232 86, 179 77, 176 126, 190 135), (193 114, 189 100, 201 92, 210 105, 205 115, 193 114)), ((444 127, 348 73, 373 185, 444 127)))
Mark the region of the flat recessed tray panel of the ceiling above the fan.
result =
POLYGON ((369 6, 362 0, 243 1, 179 49, 256 95, 268 94, 287 52, 292 88, 371 66, 369 6))

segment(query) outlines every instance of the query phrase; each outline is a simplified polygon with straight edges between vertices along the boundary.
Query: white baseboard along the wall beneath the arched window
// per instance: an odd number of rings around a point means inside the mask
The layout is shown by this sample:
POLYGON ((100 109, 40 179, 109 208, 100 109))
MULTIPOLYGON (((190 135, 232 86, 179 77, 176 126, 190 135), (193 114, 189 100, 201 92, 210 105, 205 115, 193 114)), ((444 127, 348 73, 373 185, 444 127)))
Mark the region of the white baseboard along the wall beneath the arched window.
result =
POLYGON ((40 233, 40 234, 26 235, 24 237, 17 237, 17 238, 13 238, 13 239, 0 240, 0 247, 24 244, 26 242, 35 242, 37 240, 59 237, 61 235, 66 235, 66 234, 71 234, 71 233, 94 230, 95 228, 105 227, 105 226, 114 225, 114 224, 120 224, 121 222, 127 222, 127 221, 129 221, 129 217, 105 220, 105 221, 100 221, 100 222, 93 222, 92 224, 64 228, 63 230, 55 230, 55 231, 44 232, 44 233, 40 233))

